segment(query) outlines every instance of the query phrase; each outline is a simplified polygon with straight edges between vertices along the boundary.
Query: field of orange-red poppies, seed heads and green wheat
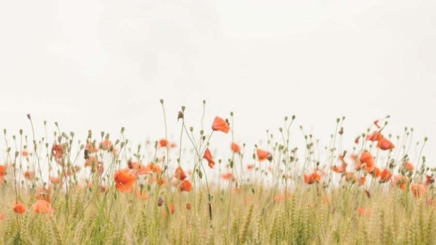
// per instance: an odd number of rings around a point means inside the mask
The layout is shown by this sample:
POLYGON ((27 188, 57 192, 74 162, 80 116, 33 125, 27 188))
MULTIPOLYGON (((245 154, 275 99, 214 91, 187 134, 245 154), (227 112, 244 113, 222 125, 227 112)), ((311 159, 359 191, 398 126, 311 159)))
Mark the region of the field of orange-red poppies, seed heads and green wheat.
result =
POLYGON ((427 138, 389 116, 361 132, 338 118, 321 140, 287 116, 258 145, 234 138, 233 112, 194 127, 161 106, 162 137, 140 144, 35 132, 29 114, 31 132, 4 129, 0 244, 436 244, 427 138))

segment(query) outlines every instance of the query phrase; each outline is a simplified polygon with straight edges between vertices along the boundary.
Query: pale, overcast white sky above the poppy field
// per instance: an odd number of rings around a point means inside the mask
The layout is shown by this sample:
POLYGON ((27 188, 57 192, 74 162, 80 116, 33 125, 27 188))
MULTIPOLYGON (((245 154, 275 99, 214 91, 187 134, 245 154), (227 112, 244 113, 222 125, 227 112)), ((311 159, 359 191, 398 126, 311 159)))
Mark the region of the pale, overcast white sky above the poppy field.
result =
MULTIPOLYGON (((75 0, 0 2, 0 128, 9 136, 88 129, 134 142, 177 138, 180 106, 199 128, 235 113, 248 146, 285 115, 328 143, 391 115, 386 133, 415 128, 436 165, 436 1, 75 0)), ((229 136, 215 135, 216 147, 229 136)), ((4 141, 0 141, 4 150, 4 141)))

